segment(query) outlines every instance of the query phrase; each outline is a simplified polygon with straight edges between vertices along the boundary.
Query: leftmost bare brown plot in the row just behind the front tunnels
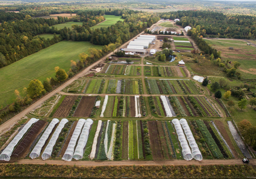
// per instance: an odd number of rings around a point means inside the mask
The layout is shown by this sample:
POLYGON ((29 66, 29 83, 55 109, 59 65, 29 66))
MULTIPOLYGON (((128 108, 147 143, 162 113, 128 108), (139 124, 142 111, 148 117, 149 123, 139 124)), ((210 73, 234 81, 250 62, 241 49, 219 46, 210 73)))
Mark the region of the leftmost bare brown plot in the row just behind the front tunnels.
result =
POLYGON ((61 103, 60 108, 58 108, 53 114, 53 117, 67 117, 76 99, 77 96, 66 96, 64 101, 61 103))

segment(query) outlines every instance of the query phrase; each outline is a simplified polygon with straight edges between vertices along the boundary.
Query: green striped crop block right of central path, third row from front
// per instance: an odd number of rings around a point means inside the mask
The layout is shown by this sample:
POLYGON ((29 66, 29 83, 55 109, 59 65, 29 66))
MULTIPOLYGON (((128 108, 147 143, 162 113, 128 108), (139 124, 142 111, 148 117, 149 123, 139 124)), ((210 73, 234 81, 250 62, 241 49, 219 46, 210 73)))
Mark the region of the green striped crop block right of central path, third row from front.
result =
POLYGON ((200 94, 191 80, 145 79, 148 94, 200 94))

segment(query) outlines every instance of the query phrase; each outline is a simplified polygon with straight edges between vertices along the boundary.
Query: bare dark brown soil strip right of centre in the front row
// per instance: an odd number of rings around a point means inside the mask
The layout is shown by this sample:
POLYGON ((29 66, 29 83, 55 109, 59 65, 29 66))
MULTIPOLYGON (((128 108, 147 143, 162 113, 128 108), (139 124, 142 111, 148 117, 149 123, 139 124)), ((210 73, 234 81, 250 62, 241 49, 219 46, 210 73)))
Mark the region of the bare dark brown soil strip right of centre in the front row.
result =
POLYGON ((164 157, 156 121, 148 121, 148 132, 153 160, 163 160, 164 157))

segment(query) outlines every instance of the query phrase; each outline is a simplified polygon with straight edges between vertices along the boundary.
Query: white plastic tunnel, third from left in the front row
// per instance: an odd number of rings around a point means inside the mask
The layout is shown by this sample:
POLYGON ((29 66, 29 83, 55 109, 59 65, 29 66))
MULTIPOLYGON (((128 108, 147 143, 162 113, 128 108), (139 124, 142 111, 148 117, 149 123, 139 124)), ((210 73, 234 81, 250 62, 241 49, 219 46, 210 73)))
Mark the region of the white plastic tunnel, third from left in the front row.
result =
POLYGON ((46 146, 44 153, 42 154, 42 159, 46 160, 48 158, 50 158, 50 156, 52 156, 52 152, 53 152, 53 147, 56 144, 56 141, 58 139, 58 136, 61 133, 61 130, 64 128, 65 124, 68 122, 67 119, 62 119, 60 124, 58 125, 57 129, 55 130, 55 132, 53 133, 52 138, 50 139, 48 145, 46 146))

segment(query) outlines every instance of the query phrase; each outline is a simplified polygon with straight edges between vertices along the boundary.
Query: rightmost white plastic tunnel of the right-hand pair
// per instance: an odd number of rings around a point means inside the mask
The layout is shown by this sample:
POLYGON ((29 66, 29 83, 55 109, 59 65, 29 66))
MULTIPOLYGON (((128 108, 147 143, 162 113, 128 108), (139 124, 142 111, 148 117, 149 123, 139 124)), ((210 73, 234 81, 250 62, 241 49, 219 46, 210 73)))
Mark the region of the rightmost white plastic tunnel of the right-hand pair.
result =
POLYGON ((195 138, 190 130, 190 126, 188 126, 187 124, 187 121, 185 119, 181 119, 180 124, 182 125, 182 128, 184 129, 184 132, 187 136, 187 140, 188 143, 190 144, 193 158, 199 161, 203 160, 203 156, 198 148, 198 145, 195 142, 195 138))

